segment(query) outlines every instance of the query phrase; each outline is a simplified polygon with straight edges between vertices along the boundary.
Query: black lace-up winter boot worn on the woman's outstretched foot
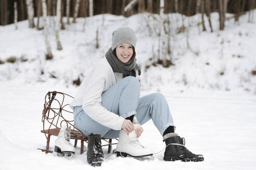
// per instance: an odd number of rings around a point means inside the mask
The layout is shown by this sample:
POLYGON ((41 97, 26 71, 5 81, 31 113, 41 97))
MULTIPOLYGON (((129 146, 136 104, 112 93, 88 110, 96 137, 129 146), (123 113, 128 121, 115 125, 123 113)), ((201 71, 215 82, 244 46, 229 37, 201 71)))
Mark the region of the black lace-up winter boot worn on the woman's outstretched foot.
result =
POLYGON ((194 154, 185 147, 185 139, 178 136, 176 133, 168 133, 163 136, 163 141, 167 145, 164 151, 164 161, 177 161, 183 162, 199 162, 203 161, 203 155, 194 154))

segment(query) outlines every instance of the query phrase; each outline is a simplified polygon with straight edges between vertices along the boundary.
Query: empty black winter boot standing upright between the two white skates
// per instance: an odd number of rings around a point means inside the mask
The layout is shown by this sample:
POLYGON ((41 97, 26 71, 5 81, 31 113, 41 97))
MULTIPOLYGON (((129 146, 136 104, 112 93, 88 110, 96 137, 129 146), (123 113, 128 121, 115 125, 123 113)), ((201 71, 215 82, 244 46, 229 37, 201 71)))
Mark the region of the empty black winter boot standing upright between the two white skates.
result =
POLYGON ((87 162, 92 166, 101 166, 104 161, 104 154, 101 148, 100 135, 93 133, 88 136, 87 162))

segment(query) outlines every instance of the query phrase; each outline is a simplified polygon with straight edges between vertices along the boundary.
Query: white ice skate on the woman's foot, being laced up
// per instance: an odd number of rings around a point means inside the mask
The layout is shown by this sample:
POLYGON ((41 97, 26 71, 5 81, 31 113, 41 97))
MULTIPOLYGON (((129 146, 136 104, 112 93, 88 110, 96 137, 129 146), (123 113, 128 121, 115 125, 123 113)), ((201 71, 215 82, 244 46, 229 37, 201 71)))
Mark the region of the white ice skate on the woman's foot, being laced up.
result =
POLYGON ((117 157, 127 157, 127 155, 130 155, 130 157, 134 158, 146 158, 153 155, 150 149, 139 143, 135 129, 140 127, 140 124, 134 124, 134 130, 129 134, 124 130, 120 131, 119 141, 116 148, 117 157))

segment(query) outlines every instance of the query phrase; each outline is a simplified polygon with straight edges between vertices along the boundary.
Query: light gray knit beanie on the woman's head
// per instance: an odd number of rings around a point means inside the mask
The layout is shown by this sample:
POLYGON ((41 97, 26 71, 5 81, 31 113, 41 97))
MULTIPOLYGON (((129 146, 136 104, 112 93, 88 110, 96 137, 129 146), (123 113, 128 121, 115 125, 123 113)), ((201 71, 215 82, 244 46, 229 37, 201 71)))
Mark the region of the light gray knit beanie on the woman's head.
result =
POLYGON ((130 43, 135 48, 136 41, 135 32, 130 27, 120 27, 112 34, 111 49, 114 50, 122 43, 130 43))

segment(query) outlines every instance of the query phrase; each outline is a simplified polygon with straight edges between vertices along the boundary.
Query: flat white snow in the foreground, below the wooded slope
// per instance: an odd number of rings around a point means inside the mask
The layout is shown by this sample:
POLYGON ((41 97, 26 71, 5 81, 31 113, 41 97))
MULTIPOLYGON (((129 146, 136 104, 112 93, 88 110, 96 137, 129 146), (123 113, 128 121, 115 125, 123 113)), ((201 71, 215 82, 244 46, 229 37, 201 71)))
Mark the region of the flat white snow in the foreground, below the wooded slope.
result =
MULTIPOLYGON (((111 154, 105 155, 108 158, 97 169, 130 169, 131 166, 138 169, 256 169, 255 95, 209 91, 173 93, 166 88, 160 92, 168 100, 176 132, 185 137, 189 150, 203 154, 204 161, 164 162, 164 151, 154 155, 155 160, 143 162, 111 154)), ((37 150, 46 147, 46 138, 40 133, 44 95, 56 89, 72 94, 75 88, 4 83, 0 89, 0 169, 94 169, 87 164, 86 153, 79 154, 79 147, 72 160, 37 150)), ((148 93, 151 92, 143 91, 142 95, 148 93)), ((143 128, 141 143, 155 153, 163 149, 162 137, 153 123, 150 121, 143 128)), ((51 137, 50 150, 54 150, 55 139, 51 137)), ((107 147, 104 151, 107 152, 107 147)))

